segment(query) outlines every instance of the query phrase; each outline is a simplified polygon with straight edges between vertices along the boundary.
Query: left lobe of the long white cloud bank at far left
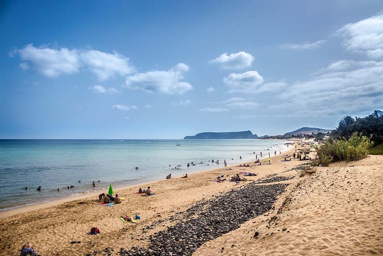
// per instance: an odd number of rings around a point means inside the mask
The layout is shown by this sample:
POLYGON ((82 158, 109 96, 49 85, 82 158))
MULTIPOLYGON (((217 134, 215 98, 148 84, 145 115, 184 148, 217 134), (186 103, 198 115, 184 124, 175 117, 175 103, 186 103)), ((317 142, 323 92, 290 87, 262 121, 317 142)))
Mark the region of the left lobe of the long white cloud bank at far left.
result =
POLYGON ((26 64, 33 66, 44 76, 57 77, 61 74, 73 74, 80 71, 81 60, 77 50, 60 48, 58 50, 45 46, 34 47, 32 44, 16 50, 26 64))

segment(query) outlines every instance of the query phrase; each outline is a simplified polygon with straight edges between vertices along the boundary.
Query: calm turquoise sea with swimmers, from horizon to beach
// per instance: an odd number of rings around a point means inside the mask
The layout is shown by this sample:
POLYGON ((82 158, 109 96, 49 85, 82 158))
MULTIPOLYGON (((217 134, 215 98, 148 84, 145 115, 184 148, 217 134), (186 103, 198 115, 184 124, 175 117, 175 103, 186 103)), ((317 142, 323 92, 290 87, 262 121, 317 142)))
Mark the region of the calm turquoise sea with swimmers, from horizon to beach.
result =
POLYGON ((230 166, 255 159, 253 152, 258 157, 261 151, 264 157, 268 156, 267 152, 279 153, 286 149, 284 143, 280 140, 0 140, 0 210, 87 193, 106 188, 110 183, 118 188, 162 179, 169 173, 179 176, 223 167, 225 159, 230 166), (211 159, 219 160, 220 165, 209 163, 211 159), (196 165, 187 168, 186 164, 191 162, 196 165), (181 165, 178 170, 174 169, 177 165, 181 165), (74 188, 67 189, 71 185, 74 188), (36 191, 38 186, 42 187, 41 192, 36 191))

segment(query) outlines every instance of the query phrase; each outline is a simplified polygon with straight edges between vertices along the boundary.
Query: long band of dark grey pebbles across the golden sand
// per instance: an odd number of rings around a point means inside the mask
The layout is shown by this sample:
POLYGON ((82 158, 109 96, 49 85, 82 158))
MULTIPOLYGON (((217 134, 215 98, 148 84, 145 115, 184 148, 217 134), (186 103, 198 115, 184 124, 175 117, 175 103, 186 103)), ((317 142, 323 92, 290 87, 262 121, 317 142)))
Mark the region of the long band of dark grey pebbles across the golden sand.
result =
POLYGON ((198 247, 265 214, 288 184, 246 184, 177 213, 178 221, 149 237, 145 248, 120 249, 120 256, 190 256, 198 247))

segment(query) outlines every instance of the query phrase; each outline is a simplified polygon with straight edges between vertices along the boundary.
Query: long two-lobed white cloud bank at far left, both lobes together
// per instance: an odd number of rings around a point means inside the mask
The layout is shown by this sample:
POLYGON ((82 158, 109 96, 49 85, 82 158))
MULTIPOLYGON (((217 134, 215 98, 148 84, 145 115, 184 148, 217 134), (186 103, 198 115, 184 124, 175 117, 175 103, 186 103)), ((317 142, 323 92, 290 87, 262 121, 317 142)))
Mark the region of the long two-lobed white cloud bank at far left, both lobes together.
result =
POLYGON ((20 64, 23 70, 31 65, 47 77, 89 70, 103 81, 116 75, 125 76, 135 72, 129 58, 117 52, 109 54, 95 50, 55 49, 45 45, 34 47, 33 44, 29 44, 11 53, 11 56, 15 55, 19 55, 24 61, 20 64))

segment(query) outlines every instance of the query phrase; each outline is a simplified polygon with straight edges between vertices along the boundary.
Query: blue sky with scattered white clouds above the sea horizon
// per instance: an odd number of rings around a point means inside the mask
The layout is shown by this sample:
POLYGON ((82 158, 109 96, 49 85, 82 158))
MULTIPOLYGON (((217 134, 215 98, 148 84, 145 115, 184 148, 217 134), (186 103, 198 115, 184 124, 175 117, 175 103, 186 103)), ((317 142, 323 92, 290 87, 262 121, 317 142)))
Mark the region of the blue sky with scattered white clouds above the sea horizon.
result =
POLYGON ((334 128, 383 109, 383 2, 2 1, 0 138, 334 128))

